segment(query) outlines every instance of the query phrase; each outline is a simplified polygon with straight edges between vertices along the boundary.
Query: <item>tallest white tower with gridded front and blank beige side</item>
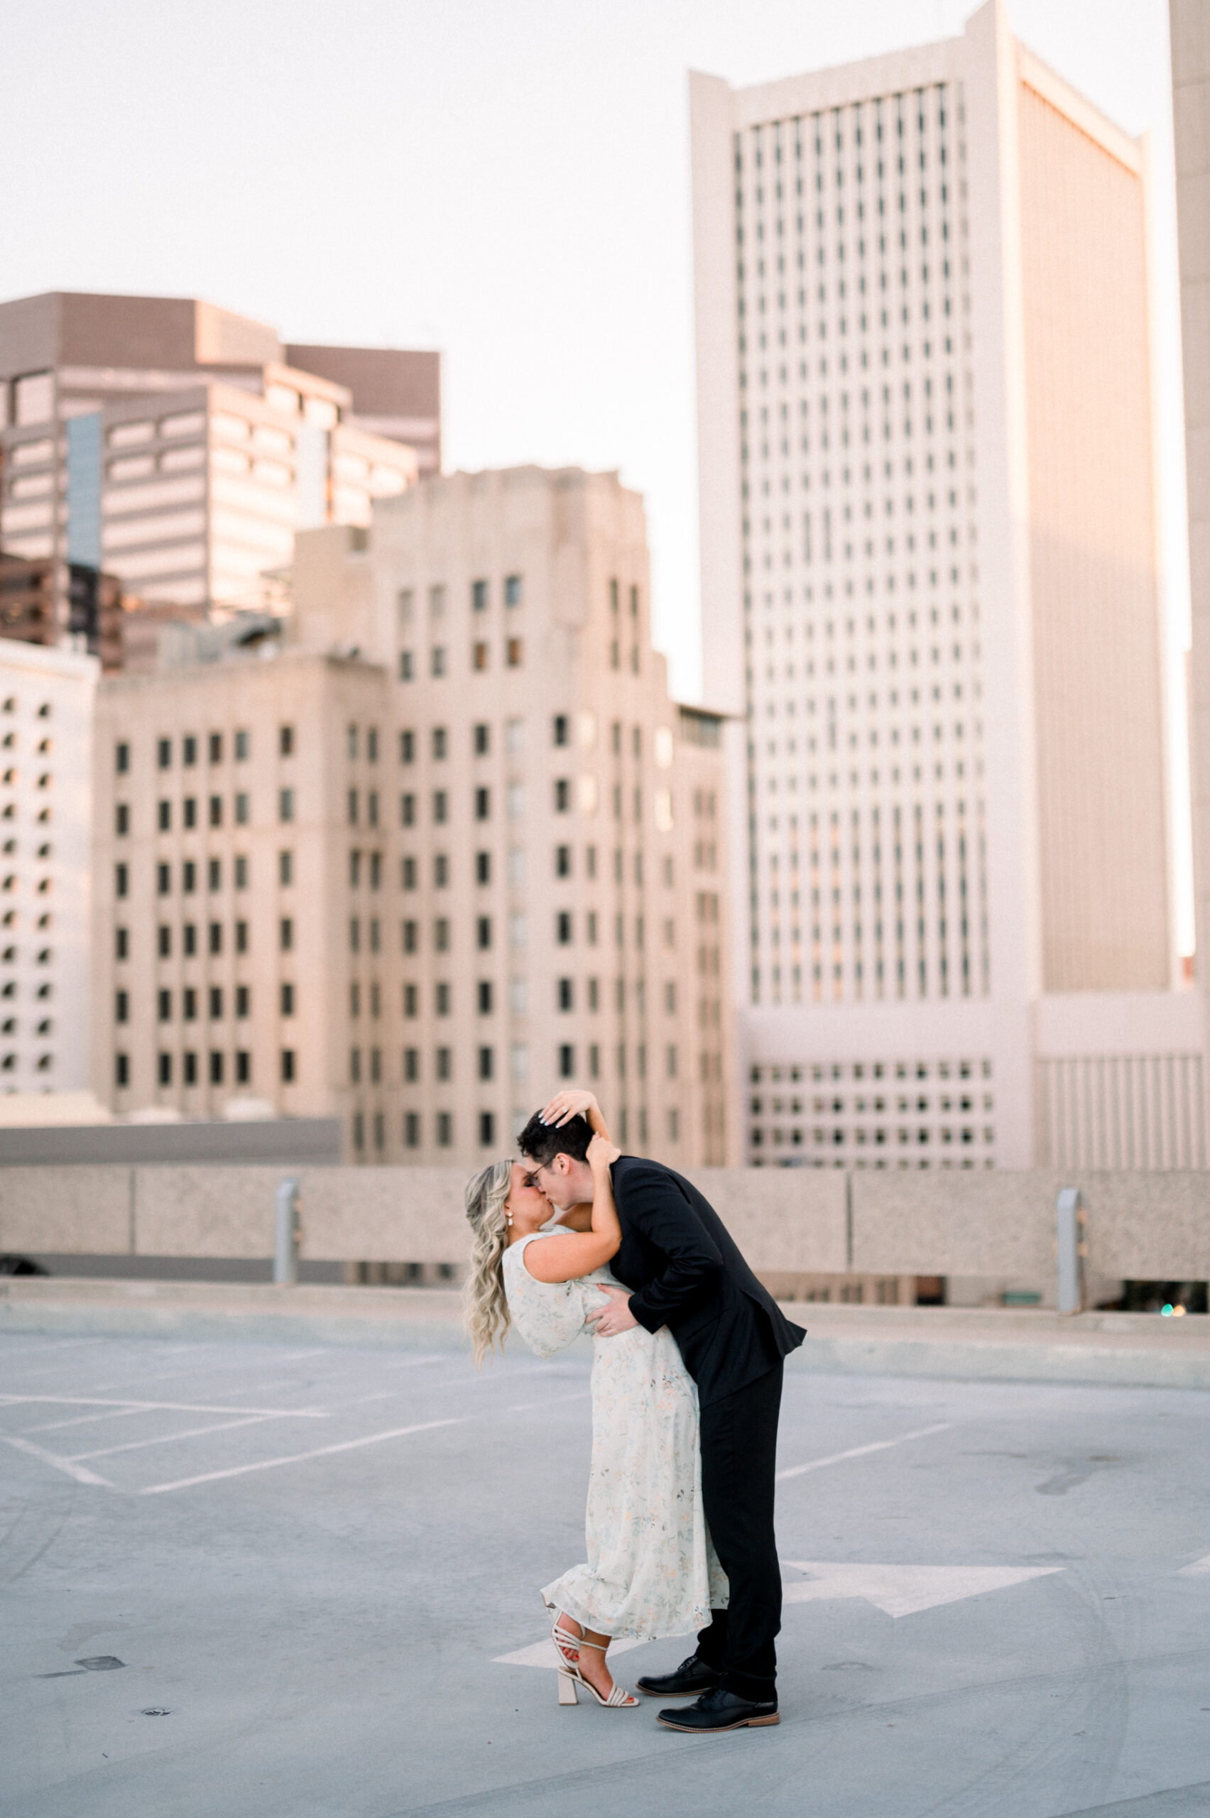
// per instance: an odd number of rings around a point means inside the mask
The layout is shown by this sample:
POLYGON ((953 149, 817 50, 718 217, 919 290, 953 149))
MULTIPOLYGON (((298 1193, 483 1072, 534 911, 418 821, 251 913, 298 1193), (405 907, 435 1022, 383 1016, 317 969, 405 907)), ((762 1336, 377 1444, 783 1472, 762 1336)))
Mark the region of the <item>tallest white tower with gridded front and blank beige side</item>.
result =
POLYGON ((999 0, 690 102, 750 1156, 1181 1165, 1143 147, 999 0))

